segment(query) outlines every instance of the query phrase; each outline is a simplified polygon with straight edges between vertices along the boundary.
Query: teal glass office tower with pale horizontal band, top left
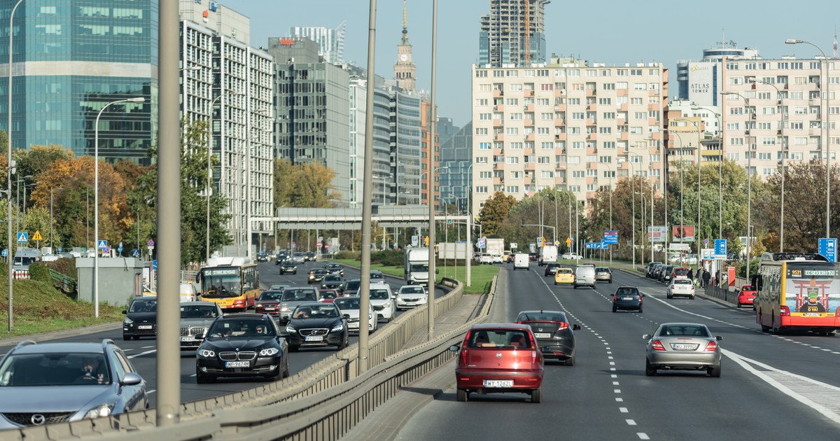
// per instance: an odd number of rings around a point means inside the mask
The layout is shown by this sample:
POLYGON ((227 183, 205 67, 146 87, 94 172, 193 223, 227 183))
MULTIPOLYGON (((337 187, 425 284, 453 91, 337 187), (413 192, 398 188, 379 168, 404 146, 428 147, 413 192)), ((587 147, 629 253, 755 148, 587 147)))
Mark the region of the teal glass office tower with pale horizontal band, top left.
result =
MULTIPOLYGON (((0 6, 0 128, 8 129, 8 23, 0 6)), ((25 0, 13 17, 12 145, 60 145, 147 164, 156 133, 158 0, 25 0)))

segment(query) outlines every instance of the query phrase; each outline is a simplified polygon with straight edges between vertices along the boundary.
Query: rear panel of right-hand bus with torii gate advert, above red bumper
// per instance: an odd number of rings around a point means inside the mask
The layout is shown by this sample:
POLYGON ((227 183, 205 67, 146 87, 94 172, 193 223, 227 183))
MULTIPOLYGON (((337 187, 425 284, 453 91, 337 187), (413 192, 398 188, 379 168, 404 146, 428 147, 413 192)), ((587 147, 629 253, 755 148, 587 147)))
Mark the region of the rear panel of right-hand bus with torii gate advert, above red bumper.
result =
POLYGON ((835 312, 840 307, 837 264, 788 263, 785 305, 790 312, 835 312))

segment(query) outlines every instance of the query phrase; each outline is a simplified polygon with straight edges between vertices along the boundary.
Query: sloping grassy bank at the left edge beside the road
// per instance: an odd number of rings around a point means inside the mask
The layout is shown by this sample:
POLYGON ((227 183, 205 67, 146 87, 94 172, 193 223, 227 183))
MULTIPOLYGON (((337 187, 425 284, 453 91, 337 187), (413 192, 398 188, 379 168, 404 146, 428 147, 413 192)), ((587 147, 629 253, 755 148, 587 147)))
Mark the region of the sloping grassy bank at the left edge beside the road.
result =
POLYGON ((124 307, 99 305, 94 318, 93 303, 77 301, 45 281, 14 281, 13 329, 8 332, 8 281, 0 287, 0 339, 48 333, 123 320, 124 307))

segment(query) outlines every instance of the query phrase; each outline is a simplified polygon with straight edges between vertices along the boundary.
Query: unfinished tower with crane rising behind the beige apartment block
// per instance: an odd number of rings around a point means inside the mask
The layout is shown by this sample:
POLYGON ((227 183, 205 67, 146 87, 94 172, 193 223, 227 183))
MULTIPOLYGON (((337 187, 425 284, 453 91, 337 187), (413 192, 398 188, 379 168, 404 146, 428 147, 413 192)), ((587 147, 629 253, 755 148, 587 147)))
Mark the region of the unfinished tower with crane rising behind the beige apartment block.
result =
POLYGON ((481 16, 479 66, 545 62, 545 5, 549 0, 490 0, 481 16))

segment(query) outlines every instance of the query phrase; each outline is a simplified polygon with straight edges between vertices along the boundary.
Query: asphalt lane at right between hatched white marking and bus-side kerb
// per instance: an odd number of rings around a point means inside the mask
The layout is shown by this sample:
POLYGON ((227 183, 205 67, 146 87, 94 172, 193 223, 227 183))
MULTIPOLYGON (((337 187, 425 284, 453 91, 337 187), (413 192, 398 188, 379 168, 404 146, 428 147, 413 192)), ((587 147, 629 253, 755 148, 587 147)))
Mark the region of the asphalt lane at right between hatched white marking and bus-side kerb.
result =
MULTIPOLYGON (((633 276, 624 277, 633 281, 633 276)), ((705 323, 713 333, 723 337, 722 348, 732 349, 751 360, 759 360, 780 370, 840 386, 840 378, 834 375, 834 366, 840 361, 840 338, 801 332, 763 333, 755 323, 755 313, 750 309, 723 305, 699 296, 693 301, 667 299, 664 285, 650 288, 643 287, 649 284, 639 285, 648 296, 646 308, 660 302, 673 310, 674 313, 666 314, 664 320, 705 323)))

